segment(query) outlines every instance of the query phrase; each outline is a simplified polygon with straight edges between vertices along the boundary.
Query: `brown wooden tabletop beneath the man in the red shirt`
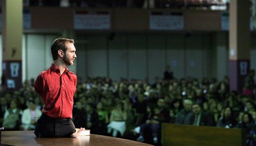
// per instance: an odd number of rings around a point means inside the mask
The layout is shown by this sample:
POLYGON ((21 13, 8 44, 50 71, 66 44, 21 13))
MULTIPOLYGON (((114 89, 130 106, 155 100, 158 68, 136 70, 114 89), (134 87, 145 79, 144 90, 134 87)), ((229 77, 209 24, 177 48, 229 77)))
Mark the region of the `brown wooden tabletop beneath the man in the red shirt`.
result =
POLYGON ((77 138, 36 138, 33 132, 34 131, 2 131, 2 145, 150 145, 138 141, 95 134, 91 134, 90 136, 78 136, 77 138))

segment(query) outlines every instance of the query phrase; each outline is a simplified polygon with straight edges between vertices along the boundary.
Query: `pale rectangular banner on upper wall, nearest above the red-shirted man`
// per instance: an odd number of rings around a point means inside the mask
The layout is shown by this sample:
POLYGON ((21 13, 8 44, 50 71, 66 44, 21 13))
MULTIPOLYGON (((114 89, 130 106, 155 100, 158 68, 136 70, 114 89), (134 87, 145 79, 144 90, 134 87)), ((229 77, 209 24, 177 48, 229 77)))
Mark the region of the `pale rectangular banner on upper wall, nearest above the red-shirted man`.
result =
POLYGON ((108 11, 78 11, 74 12, 75 30, 109 30, 111 26, 108 11))

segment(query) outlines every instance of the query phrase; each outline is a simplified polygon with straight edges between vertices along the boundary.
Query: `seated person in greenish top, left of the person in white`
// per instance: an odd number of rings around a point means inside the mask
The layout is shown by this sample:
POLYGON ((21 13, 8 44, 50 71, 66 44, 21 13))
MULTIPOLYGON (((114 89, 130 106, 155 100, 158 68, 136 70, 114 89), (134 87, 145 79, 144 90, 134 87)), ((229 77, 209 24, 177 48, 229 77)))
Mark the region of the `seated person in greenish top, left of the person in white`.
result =
POLYGON ((20 119, 22 116, 22 110, 17 108, 17 100, 13 99, 10 103, 4 115, 3 127, 6 131, 20 130, 20 119))

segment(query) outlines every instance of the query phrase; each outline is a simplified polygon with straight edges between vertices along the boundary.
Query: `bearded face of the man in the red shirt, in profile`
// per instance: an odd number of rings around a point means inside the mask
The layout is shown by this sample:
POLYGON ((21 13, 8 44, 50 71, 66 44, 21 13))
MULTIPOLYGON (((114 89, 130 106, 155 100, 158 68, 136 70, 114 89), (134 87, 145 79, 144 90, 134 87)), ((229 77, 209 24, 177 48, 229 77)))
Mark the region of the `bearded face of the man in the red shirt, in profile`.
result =
POLYGON ((65 62, 66 65, 73 65, 74 64, 74 60, 76 58, 76 48, 74 46, 74 44, 72 43, 66 43, 66 47, 67 47, 67 50, 64 54, 64 57, 63 57, 63 62, 65 62))

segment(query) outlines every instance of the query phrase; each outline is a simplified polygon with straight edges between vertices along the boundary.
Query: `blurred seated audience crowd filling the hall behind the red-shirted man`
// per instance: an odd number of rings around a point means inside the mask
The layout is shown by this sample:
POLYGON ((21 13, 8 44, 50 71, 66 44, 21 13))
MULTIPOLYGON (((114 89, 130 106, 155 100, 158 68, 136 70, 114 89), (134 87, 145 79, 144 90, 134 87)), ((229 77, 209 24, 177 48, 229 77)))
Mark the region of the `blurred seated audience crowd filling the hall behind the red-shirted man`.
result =
MULTIPOLYGON (((254 86, 253 78, 251 73, 246 79, 250 86, 254 86)), ((227 76, 220 81, 191 77, 155 79, 152 84, 124 78, 113 81, 105 77, 78 82, 73 109, 76 127, 154 145, 161 143, 161 123, 236 127, 246 129, 247 141, 253 143, 255 94, 230 92, 227 76)), ((20 90, 0 92, 0 124, 5 130, 33 129, 29 125, 34 124, 36 119, 33 118, 39 114, 35 110, 41 110, 44 105, 32 84, 33 80, 29 80, 20 90), (25 115, 30 122, 24 122, 25 115)))

